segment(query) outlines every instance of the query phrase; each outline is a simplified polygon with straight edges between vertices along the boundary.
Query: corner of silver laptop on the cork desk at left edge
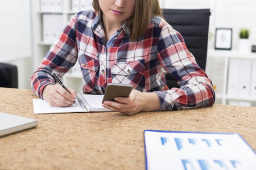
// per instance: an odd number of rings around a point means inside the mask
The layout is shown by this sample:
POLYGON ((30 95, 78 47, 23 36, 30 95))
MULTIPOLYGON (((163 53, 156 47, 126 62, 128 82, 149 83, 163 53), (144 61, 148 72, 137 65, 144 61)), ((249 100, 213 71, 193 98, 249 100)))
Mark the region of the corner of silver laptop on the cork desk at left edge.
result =
POLYGON ((35 128, 38 120, 0 112, 0 137, 35 128))

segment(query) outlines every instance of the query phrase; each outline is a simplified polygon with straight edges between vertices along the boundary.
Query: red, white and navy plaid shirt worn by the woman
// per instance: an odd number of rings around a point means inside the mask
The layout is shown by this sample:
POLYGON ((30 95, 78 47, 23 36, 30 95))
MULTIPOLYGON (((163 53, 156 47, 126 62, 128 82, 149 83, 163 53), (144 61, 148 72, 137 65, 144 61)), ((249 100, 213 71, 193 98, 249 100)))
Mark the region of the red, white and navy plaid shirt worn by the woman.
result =
POLYGON ((155 92, 160 111, 214 104, 212 82, 188 52, 183 37, 159 16, 152 17, 146 33, 130 41, 131 27, 123 23, 105 45, 100 15, 77 13, 64 28, 31 78, 42 98, 47 84, 55 84, 78 61, 84 93, 104 94, 108 83, 131 84, 141 92, 155 92), (164 74, 175 76, 180 88, 166 86, 164 74))

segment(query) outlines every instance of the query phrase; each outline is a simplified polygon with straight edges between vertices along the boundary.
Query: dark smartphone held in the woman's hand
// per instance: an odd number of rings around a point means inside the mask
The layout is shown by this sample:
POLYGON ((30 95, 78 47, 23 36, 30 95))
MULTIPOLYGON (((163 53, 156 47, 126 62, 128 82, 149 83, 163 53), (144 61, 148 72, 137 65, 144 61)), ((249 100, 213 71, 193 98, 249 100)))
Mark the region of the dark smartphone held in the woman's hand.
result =
POLYGON ((114 97, 129 97, 131 90, 133 90, 131 84, 109 83, 102 99, 102 103, 104 103, 105 100, 114 100, 114 97))

